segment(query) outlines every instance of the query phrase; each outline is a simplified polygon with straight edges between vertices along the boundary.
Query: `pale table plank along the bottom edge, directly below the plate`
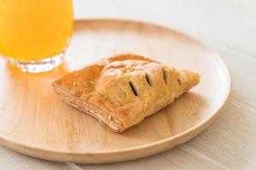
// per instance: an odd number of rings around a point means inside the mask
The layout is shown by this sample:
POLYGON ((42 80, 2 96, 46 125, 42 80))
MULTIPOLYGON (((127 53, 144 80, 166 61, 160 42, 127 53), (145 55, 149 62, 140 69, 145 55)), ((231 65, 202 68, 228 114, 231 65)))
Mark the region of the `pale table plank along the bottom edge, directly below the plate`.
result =
POLYGON ((104 165, 79 165, 82 169, 138 169, 138 170, 153 170, 153 169, 206 169, 206 170, 224 170, 227 169, 216 161, 212 161, 207 156, 192 149, 186 144, 178 146, 172 151, 166 151, 156 156, 150 156, 137 161, 126 161, 115 164, 104 165), (183 163, 184 160, 186 163, 183 163))

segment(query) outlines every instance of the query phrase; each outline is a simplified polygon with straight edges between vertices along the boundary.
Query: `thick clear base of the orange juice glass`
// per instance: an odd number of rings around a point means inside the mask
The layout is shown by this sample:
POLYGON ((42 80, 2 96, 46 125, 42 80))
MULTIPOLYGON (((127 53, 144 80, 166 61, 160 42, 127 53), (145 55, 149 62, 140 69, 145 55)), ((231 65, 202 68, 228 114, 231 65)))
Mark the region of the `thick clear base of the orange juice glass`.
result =
POLYGON ((13 58, 5 59, 7 59, 10 64, 19 67, 23 72, 38 73, 53 70, 56 66, 61 64, 63 57, 64 53, 42 60, 20 61, 13 58))

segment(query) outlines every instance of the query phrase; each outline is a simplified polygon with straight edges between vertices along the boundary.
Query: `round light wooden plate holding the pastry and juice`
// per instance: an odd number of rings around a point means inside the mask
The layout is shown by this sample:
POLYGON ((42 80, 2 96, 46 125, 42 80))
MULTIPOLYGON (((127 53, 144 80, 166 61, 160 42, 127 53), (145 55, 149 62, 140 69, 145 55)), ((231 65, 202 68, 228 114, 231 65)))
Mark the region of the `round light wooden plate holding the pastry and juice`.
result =
POLYGON ((63 65, 28 74, 0 59, 0 82, 0 144, 28 156, 79 163, 133 160, 182 144, 217 118, 230 94, 229 71, 215 51, 180 32, 127 20, 76 21, 63 65), (201 82, 137 126, 112 133, 62 102, 50 82, 119 52, 197 71, 201 82))

